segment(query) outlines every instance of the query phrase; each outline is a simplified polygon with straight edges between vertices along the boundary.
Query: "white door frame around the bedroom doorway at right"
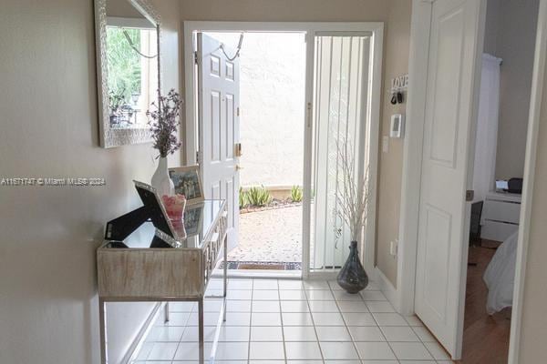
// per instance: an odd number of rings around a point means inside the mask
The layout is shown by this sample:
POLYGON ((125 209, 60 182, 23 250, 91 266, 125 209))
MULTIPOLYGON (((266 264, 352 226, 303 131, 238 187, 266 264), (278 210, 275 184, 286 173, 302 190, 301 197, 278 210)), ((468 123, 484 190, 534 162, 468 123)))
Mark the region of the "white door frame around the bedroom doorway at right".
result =
MULTIPOLYGON (((484 0, 478 0, 485 2, 484 0)), ((414 314, 416 287, 416 262, 418 252, 418 205, 421 179, 421 157, 424 132, 425 89, 428 72, 428 42, 430 33, 431 8, 434 0, 412 0, 412 20, 410 30, 409 85, 407 106, 407 127, 404 141, 403 170, 401 187, 401 212, 399 219, 399 256, 397 261, 397 302, 399 313, 414 314)), ((485 6, 483 5, 484 10, 485 6)), ((484 34, 484 24, 479 26, 484 34)), ((480 42, 481 43, 481 42, 480 42)), ((480 52, 480 56, 482 52, 480 52)), ((479 62, 479 60, 478 60, 479 62)), ((540 0, 536 45, 532 75, 532 95, 528 136, 526 145, 524 187, 522 191, 520 232, 515 267, 515 287, 513 292, 513 314, 511 319, 511 339, 509 364, 517 364, 519 358, 522 298, 528 251, 530 220, 532 218, 532 190, 534 166, 537 150, 537 131, 540 124, 543 80, 547 66, 547 0, 540 0)), ((480 76, 480 75, 479 75, 480 76)), ((477 77, 477 76, 476 76, 477 77)), ((479 78, 480 79, 480 78, 479 78)), ((478 89, 475 93, 475 108, 478 106, 478 89)), ((475 127, 471 129, 475 137, 475 127)), ((472 143, 470 148, 474 148, 472 143)), ((472 149, 470 150, 473 151, 472 149)), ((472 157, 472 153, 470 153, 472 157)), ((472 173, 472 162, 468 164, 468 176, 472 173)), ((470 178, 468 177, 468 183, 470 178)), ((464 256, 467 266, 467 257, 464 256)), ((463 286, 465 288, 465 286, 463 286)), ((464 306, 464 302, 462 302, 464 306)), ((460 307, 463 312, 464 307, 460 307)))

